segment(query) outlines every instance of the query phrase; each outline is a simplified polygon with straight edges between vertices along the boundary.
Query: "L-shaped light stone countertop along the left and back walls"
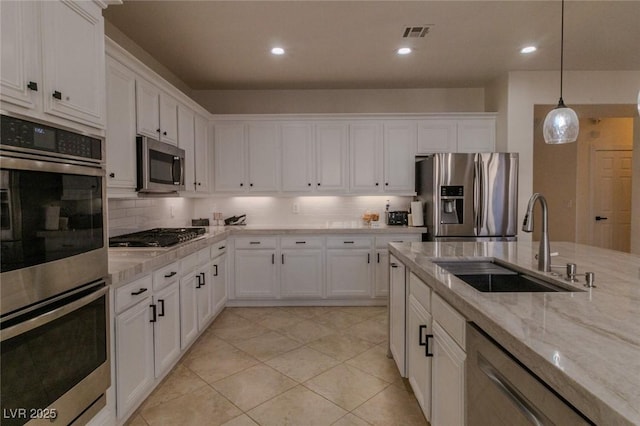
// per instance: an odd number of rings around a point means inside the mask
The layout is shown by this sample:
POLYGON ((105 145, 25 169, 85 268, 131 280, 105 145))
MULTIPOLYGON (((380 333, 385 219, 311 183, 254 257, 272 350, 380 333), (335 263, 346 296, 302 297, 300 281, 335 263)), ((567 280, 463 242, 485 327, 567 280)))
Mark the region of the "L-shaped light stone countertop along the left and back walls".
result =
POLYGON ((330 222, 319 225, 245 225, 205 227, 204 237, 168 248, 109 248, 111 286, 118 287, 171 262, 209 247, 229 236, 242 235, 397 235, 422 234, 423 227, 363 226, 359 221, 330 222))

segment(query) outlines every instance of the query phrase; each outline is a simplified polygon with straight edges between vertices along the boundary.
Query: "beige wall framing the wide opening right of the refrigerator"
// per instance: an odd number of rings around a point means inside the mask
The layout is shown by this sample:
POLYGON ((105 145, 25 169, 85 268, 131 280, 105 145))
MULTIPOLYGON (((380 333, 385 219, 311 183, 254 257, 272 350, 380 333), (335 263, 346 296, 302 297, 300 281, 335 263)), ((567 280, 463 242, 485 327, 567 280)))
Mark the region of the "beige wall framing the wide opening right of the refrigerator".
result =
MULTIPOLYGON (((524 217, 533 189, 533 126, 534 105, 555 105, 558 102, 560 75, 557 71, 514 71, 508 77, 506 148, 520 153, 518 216, 524 217)), ((565 71, 563 98, 572 104, 636 104, 640 88, 640 71, 565 71)), ((496 90, 495 87, 490 90, 496 90)), ((492 97, 499 97, 493 94, 492 97)), ((500 111, 502 114, 504 111, 500 111)), ((640 150, 640 142, 634 142, 640 150)), ((634 172, 637 173, 637 166, 634 172)), ((637 186, 634 195, 638 196, 637 186)), ((635 202, 634 206, 639 203, 635 202)), ((638 213, 633 212, 637 218, 638 213)), ((638 229, 637 225, 635 228, 638 229)), ((530 234, 520 233, 521 240, 530 234)), ((552 236, 553 238, 553 236, 552 236)))

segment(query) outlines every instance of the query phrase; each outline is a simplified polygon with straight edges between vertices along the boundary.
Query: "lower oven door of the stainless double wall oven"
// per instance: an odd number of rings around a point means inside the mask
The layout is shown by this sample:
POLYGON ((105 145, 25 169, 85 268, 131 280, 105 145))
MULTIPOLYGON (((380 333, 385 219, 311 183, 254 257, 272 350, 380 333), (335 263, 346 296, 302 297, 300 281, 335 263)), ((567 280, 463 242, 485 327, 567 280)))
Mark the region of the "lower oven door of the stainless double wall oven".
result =
POLYGON ((83 423, 105 405, 108 290, 104 281, 92 283, 3 321, 0 423, 83 423))

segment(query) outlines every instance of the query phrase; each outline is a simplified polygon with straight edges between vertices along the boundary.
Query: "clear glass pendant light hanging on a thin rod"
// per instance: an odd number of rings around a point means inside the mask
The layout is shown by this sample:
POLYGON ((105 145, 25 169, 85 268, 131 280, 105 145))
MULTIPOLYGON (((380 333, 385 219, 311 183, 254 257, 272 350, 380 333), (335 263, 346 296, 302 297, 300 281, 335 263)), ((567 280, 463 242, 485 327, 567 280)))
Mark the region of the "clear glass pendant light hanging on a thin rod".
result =
POLYGON ((548 144, 575 142, 580 121, 576 112, 568 108, 562 99, 562 71, 564 66, 564 0, 562 0, 562 23, 560 26, 560 100, 558 106, 549 111, 544 119, 542 133, 548 144))

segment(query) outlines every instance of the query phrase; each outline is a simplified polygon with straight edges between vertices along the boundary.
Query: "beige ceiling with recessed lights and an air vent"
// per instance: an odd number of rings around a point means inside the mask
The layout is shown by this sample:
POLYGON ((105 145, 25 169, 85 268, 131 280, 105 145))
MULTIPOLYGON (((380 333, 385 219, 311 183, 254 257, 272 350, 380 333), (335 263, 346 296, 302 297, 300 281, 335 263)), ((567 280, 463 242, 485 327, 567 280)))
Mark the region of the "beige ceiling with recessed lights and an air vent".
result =
MULTIPOLYGON (((105 19, 190 88, 481 87, 559 70, 559 0, 133 1, 105 19), (431 25, 403 39, 406 26, 431 25), (519 49, 535 44, 523 56, 519 49), (279 45, 280 57, 269 53, 279 45), (414 49, 398 56, 401 46, 414 49)), ((567 1, 565 70, 640 71, 640 1, 567 1)))

